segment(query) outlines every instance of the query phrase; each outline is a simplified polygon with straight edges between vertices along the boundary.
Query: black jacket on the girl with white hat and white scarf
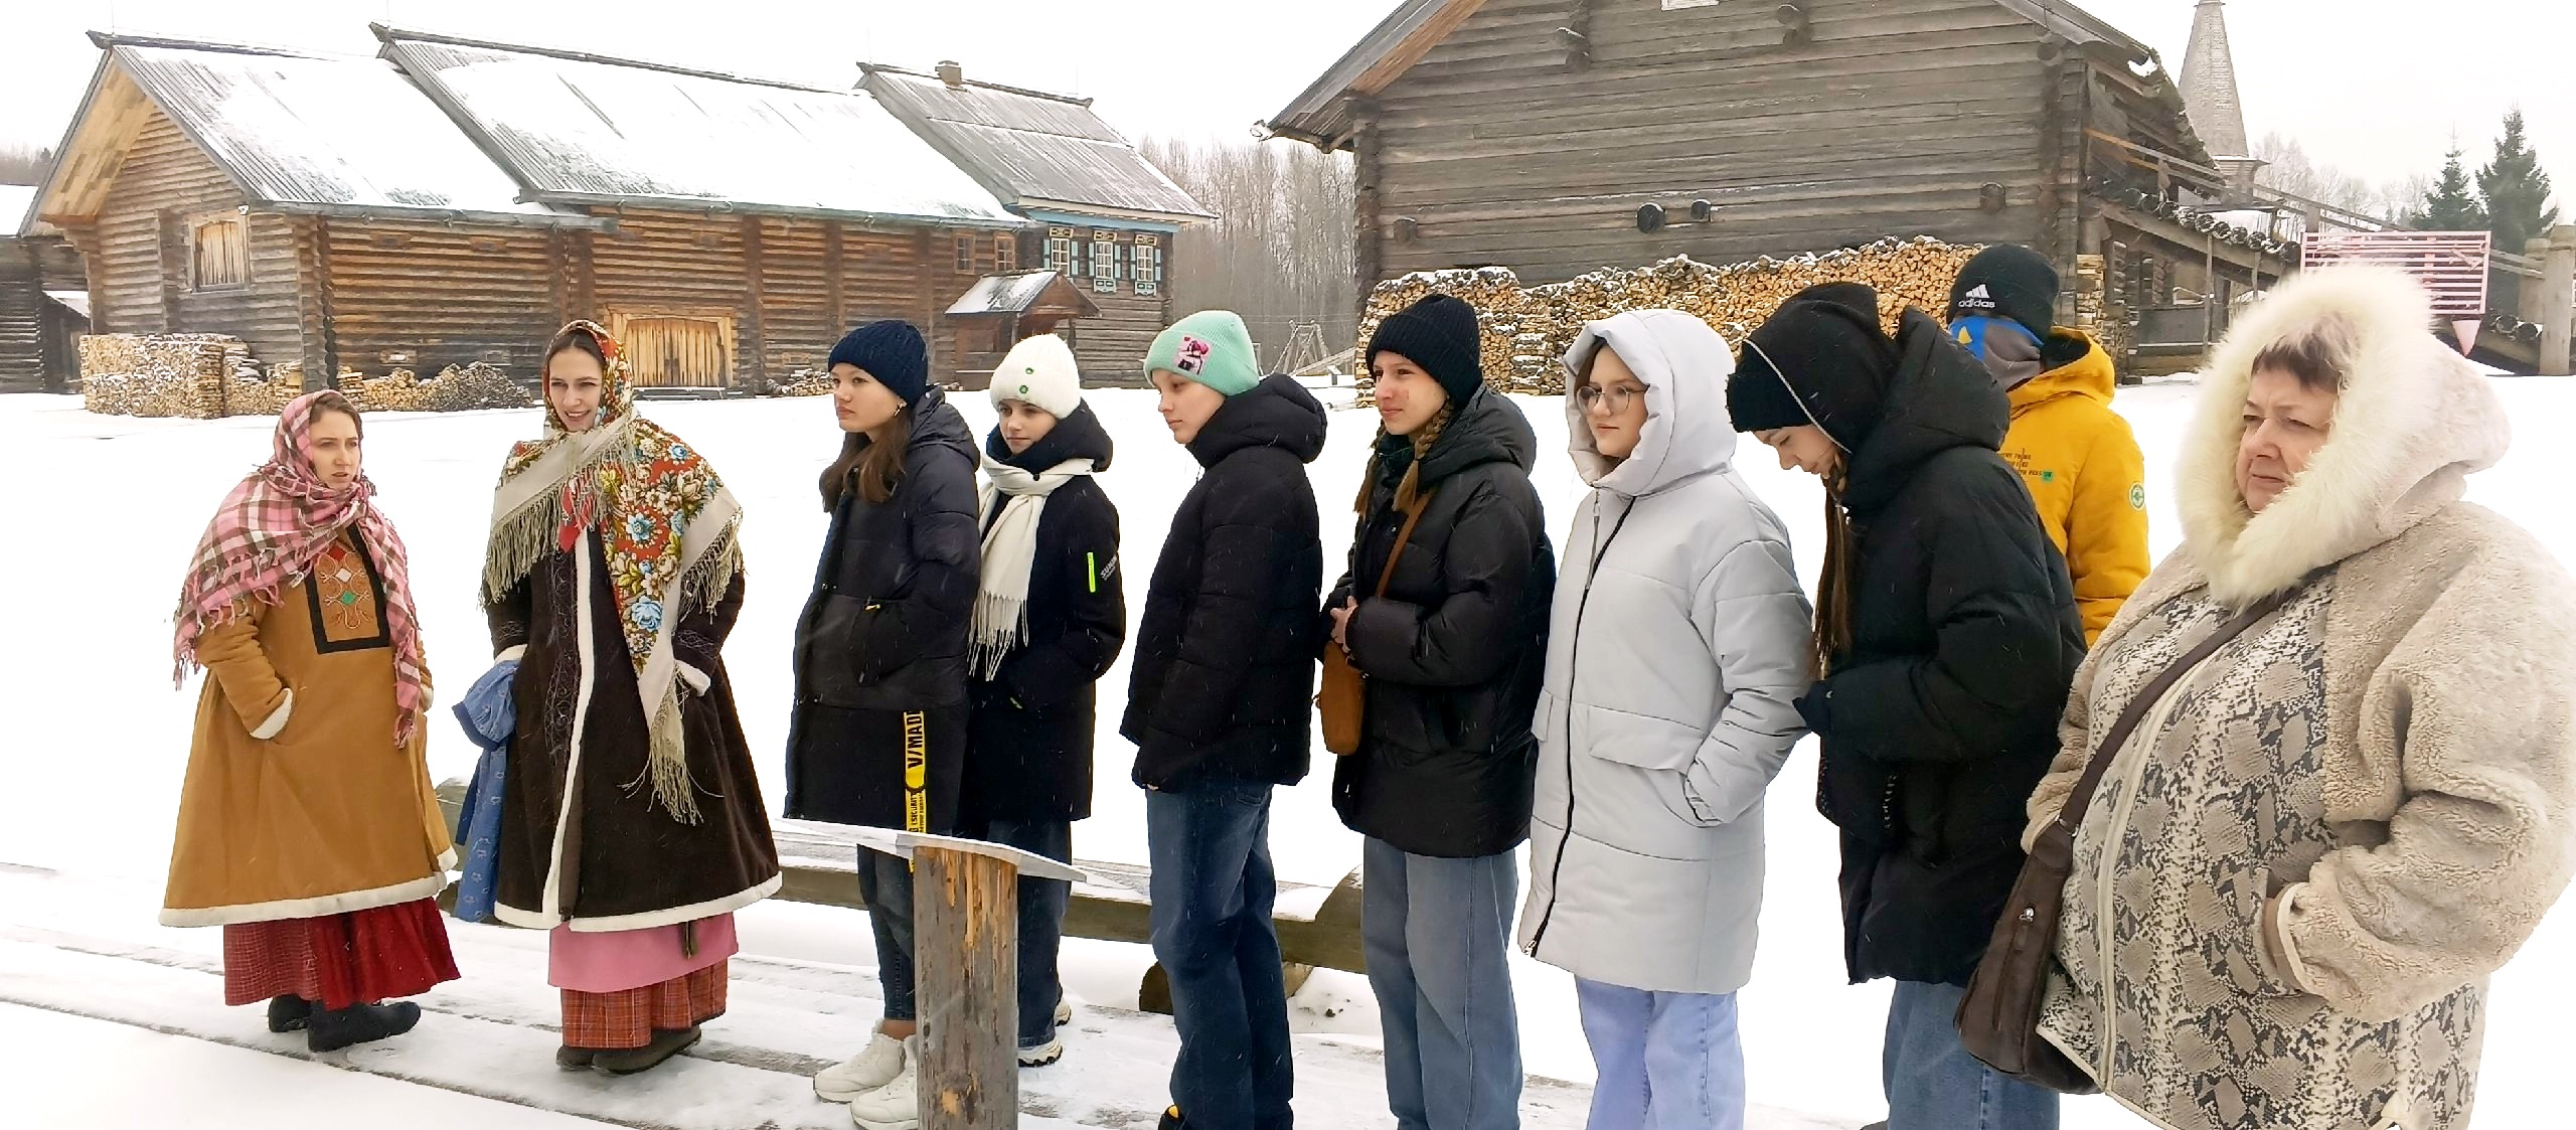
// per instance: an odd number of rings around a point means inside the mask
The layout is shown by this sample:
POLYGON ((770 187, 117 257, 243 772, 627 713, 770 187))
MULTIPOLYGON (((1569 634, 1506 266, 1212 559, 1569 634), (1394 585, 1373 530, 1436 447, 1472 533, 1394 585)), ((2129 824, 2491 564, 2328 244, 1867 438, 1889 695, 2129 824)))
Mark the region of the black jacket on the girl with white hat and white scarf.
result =
MULTIPOLYGON (((1069 458, 1110 466, 1110 432, 1082 404, 1046 438, 1012 456, 994 430, 984 453, 1023 471, 1069 458)), ((1002 515, 1002 494, 984 517, 1002 515)), ((974 680, 966 749, 966 826, 987 821, 1079 821, 1092 813, 1092 718, 1097 682, 1126 644, 1118 569, 1118 507, 1090 476, 1069 479, 1038 512, 1038 551, 1028 566, 1028 638, 974 680)))

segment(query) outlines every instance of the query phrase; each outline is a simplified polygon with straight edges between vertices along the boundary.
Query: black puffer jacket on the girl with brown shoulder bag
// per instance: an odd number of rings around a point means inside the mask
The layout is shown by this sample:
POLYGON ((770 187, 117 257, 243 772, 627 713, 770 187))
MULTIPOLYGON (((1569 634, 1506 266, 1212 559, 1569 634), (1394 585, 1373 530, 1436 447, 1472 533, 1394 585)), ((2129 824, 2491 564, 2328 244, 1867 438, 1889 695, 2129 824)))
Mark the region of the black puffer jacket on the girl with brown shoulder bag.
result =
POLYGON ((1422 458, 1430 492, 1386 597, 1412 443, 1378 448, 1378 481, 1327 610, 1358 595, 1345 638, 1368 674, 1360 752, 1340 757, 1342 824, 1412 855, 1479 857, 1530 837, 1530 710, 1548 656, 1556 551, 1530 486, 1538 438, 1510 396, 1479 391, 1422 458))

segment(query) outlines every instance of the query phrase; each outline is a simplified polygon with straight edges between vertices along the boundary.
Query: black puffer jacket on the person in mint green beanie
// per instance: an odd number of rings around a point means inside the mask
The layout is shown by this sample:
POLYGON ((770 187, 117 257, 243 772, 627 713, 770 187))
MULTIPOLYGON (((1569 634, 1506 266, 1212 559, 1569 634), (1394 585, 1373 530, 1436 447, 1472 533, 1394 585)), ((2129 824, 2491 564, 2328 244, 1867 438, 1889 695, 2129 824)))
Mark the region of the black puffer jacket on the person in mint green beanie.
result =
POLYGON ((1229 396, 1190 443, 1206 474, 1172 512, 1118 726, 1136 783, 1296 785, 1314 744, 1324 546, 1306 463, 1324 404, 1285 376, 1229 396))

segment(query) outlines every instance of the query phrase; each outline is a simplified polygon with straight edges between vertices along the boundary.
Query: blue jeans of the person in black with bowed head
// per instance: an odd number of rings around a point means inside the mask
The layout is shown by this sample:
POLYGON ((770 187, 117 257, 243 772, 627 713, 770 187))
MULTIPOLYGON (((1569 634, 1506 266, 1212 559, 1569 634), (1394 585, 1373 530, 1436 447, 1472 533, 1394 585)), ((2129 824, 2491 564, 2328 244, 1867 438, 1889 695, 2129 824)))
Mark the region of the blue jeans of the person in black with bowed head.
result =
POLYGON ((1999 1076, 1958 1042, 1963 986, 1899 981, 1888 1001, 1888 1130, 2056 1130, 2058 1094, 1999 1076))

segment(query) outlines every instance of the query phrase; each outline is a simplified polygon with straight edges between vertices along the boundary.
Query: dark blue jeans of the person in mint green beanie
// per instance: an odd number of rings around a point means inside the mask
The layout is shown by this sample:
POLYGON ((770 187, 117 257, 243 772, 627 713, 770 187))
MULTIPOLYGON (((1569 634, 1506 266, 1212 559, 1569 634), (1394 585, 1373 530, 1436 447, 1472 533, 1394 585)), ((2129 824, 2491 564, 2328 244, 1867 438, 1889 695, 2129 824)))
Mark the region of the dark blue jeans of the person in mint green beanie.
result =
POLYGON ((1154 960, 1172 978, 1172 1104, 1190 1130, 1288 1130, 1288 981, 1270 927, 1270 785, 1146 793, 1154 960))

